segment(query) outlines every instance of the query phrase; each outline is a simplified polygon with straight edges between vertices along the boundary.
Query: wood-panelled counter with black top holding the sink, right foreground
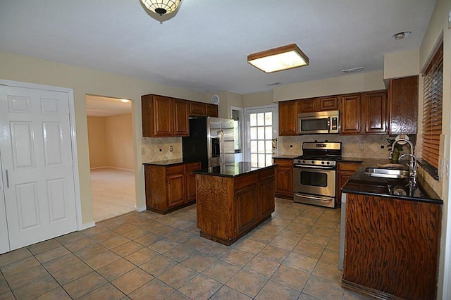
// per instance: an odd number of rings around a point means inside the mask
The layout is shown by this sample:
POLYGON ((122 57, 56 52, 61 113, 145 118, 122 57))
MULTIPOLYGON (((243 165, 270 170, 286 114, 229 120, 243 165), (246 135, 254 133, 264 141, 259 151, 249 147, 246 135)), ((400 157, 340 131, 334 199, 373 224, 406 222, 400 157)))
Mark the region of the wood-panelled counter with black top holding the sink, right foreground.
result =
POLYGON ((365 160, 342 187, 342 287, 376 299, 435 299, 443 201, 425 184, 411 191, 407 179, 364 173, 385 163, 365 160))

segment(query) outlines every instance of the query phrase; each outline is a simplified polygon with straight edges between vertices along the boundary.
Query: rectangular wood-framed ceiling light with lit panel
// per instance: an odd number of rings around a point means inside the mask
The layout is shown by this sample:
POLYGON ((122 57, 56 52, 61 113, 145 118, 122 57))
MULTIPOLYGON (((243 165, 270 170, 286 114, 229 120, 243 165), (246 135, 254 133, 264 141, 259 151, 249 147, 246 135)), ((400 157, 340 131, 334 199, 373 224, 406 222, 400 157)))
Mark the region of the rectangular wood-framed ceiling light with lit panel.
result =
POLYGON ((265 73, 302 67, 309 64, 309 58, 296 44, 249 54, 247 62, 265 73))

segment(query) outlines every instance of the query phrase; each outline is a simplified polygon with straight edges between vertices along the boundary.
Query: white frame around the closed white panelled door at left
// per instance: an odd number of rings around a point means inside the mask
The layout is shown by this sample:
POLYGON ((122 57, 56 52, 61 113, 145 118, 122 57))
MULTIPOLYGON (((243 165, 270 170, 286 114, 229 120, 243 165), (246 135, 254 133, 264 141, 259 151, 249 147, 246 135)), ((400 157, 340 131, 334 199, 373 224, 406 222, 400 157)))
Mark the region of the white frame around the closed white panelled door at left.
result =
POLYGON ((70 125, 70 147, 72 149, 72 161, 73 161, 73 184, 75 194, 75 209, 77 218, 77 230, 83 230, 82 225, 82 206, 80 197, 80 178, 78 172, 78 151, 77 151, 77 138, 75 131, 75 106, 73 99, 73 89, 66 87, 53 87, 51 85, 38 85, 29 82, 18 82, 11 80, 1 80, 0 85, 7 87, 23 87, 26 89, 42 89, 46 91, 64 92, 68 94, 69 101, 69 125, 70 125))

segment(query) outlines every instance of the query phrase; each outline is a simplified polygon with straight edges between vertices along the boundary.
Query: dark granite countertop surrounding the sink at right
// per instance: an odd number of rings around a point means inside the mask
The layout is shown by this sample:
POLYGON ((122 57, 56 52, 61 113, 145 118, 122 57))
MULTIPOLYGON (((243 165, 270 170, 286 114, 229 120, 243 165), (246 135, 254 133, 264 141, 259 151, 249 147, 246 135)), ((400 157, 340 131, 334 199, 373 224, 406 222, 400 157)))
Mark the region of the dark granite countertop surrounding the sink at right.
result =
MULTIPOLYGON (((359 169, 350 177, 350 180, 342 187, 344 193, 366 194, 370 196, 387 196, 390 198, 407 201, 421 201, 432 204, 443 204, 443 200, 427 184, 419 185, 414 190, 414 196, 408 196, 409 182, 407 179, 392 179, 373 177, 364 174, 366 168, 378 167, 389 163, 388 159, 364 158, 359 169), (404 190, 407 196, 393 194, 395 190, 404 190)), ((407 166, 404 168, 407 170, 407 166)))

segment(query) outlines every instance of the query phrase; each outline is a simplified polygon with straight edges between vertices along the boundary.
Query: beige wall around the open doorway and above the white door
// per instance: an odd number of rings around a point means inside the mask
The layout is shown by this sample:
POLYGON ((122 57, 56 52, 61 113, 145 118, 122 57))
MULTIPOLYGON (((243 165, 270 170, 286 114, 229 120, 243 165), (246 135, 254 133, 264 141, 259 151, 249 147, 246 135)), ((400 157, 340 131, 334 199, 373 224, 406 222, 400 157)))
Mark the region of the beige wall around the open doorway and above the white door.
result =
MULTIPOLYGON (((132 100, 135 182, 137 183, 137 207, 145 208, 144 171, 141 158, 141 96, 161 94, 193 101, 206 101, 206 94, 180 89, 132 77, 104 73, 63 63, 0 52, 0 78, 19 82, 32 82, 73 89, 75 104, 75 130, 77 134, 78 170, 82 224, 94 221, 92 191, 89 173, 89 149, 87 137, 86 94, 110 96, 132 100)), ((208 99, 209 101, 209 99, 208 99)), ((221 106, 221 104, 220 104, 221 106)))

